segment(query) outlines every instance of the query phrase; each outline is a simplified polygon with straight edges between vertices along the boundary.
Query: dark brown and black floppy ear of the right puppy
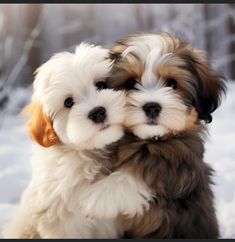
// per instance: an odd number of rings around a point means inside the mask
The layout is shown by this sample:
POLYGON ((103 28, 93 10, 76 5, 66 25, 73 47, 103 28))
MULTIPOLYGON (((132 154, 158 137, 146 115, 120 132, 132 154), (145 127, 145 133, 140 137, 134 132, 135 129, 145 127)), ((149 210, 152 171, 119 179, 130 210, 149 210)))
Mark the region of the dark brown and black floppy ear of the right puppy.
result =
POLYGON ((205 52, 193 50, 193 66, 198 83, 195 108, 199 119, 206 123, 212 121, 211 113, 220 105, 222 94, 226 92, 224 78, 218 75, 210 66, 205 52))

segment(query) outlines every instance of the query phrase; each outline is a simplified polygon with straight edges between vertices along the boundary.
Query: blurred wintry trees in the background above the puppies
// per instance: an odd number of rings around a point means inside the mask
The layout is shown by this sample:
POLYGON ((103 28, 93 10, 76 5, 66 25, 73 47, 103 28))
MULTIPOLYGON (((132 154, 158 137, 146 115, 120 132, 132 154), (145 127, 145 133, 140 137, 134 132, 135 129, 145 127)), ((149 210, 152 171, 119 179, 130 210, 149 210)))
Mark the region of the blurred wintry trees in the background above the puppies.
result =
POLYGON ((176 34, 235 79, 235 4, 1 4, 0 108, 55 52, 82 41, 111 47, 133 31, 176 34))

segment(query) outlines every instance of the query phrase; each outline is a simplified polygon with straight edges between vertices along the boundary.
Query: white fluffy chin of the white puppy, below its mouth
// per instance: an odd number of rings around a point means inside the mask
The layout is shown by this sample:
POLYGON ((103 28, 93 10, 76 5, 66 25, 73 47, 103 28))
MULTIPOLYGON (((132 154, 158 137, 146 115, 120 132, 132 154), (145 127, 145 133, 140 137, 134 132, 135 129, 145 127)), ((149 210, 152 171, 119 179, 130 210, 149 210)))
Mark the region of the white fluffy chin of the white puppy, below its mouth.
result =
POLYGON ((122 138, 124 130, 120 124, 112 124, 105 129, 99 130, 94 136, 87 141, 79 144, 81 149, 102 149, 106 145, 118 141, 122 138))

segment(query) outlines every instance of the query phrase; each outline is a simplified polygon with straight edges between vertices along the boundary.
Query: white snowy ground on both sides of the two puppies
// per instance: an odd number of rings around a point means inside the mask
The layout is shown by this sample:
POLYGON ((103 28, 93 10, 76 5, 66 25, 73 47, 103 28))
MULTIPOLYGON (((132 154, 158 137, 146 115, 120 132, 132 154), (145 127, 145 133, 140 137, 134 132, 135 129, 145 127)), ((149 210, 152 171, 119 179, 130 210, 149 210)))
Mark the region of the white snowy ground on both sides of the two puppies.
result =
MULTIPOLYGON (((29 94, 18 90, 12 95, 11 113, 17 112, 16 103, 28 100, 29 94)), ((229 83, 227 98, 213 118, 205 160, 216 170, 214 191, 221 236, 235 238, 235 82, 229 83)), ((0 237, 2 226, 16 209, 31 176, 32 143, 24 122, 15 115, 0 121, 0 237)))

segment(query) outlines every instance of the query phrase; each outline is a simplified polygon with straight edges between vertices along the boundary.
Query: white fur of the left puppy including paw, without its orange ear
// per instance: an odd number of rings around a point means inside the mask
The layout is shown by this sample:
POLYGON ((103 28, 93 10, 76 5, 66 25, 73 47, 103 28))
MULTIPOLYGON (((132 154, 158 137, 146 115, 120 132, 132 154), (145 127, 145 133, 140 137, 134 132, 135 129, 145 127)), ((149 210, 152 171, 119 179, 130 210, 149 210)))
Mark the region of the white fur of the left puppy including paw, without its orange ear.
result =
POLYGON ((88 157, 86 150, 104 148, 123 135, 123 93, 95 87, 111 66, 108 50, 81 44, 75 54, 57 54, 38 69, 32 101, 40 103, 53 121, 60 143, 35 147, 32 180, 4 229, 5 237, 118 238, 122 231, 113 219, 118 210, 134 215, 147 207, 150 192, 126 173, 113 173, 92 184, 100 175, 102 162, 88 157), (75 104, 67 109, 64 100, 70 96, 75 104), (96 106, 106 108, 106 129, 88 119, 96 106), (113 183, 117 185, 114 191, 113 183), (111 191, 114 196, 106 200, 111 191), (108 218, 87 218, 79 202, 83 208, 94 205, 100 217, 108 218))

